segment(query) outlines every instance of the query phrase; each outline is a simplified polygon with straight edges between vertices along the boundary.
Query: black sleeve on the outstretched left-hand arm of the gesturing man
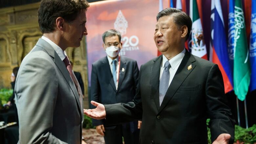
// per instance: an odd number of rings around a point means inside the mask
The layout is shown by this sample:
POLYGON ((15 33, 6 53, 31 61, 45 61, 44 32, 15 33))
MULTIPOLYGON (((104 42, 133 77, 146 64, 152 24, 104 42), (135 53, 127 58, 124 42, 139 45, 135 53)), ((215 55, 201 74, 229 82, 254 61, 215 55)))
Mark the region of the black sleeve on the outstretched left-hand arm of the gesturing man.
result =
MULTIPOLYGON (((141 69, 142 69, 142 66, 140 67, 140 70, 141 69)), ((128 102, 127 104, 117 103, 117 104, 111 104, 111 105, 104 105, 106 110, 106 120, 104 121, 104 126, 122 124, 122 123, 131 122, 131 121, 142 118, 140 75, 141 75, 141 71, 139 72, 139 81, 137 85, 136 95, 132 100, 132 102, 128 102)))

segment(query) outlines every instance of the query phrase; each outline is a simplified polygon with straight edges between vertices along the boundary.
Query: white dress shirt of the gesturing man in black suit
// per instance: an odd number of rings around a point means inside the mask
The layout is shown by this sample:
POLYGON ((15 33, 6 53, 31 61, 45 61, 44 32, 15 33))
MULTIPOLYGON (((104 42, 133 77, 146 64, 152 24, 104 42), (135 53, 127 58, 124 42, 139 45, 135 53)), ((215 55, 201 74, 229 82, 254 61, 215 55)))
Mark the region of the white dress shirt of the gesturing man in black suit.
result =
MULTIPOLYGON (((170 79, 169 79, 169 85, 168 86, 170 86, 170 84, 172 82, 172 79, 173 79, 175 73, 177 72, 177 70, 178 70, 178 68, 181 64, 181 61, 182 61, 182 59, 185 55, 185 52, 186 52, 186 50, 184 49, 183 51, 181 51, 181 53, 175 55, 173 58, 171 58, 169 60, 171 68, 169 69, 170 79)), ((163 73, 163 70, 164 70, 163 66, 164 66, 165 62, 168 61, 168 59, 164 55, 162 57, 163 57, 163 59, 162 59, 161 67, 160 67, 160 78, 159 78, 159 80, 161 79, 161 76, 162 76, 162 73, 163 73)))

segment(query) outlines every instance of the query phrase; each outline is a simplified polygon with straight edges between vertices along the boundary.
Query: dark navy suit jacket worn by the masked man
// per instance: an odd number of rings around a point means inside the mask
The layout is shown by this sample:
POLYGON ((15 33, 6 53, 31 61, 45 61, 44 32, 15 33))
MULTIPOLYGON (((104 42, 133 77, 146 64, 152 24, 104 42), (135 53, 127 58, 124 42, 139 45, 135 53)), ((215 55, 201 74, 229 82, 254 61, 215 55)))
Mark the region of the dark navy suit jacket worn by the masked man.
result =
MULTIPOLYGON (((125 56, 120 56, 119 82, 116 90, 108 58, 107 56, 103 57, 92 64, 91 100, 102 104, 130 102, 136 93, 138 77, 137 62, 125 56), (124 69, 124 72, 122 72, 122 69, 124 69)), ((102 120, 93 119, 93 125, 102 124, 102 120)), ((134 125, 137 128, 137 125, 134 125)))

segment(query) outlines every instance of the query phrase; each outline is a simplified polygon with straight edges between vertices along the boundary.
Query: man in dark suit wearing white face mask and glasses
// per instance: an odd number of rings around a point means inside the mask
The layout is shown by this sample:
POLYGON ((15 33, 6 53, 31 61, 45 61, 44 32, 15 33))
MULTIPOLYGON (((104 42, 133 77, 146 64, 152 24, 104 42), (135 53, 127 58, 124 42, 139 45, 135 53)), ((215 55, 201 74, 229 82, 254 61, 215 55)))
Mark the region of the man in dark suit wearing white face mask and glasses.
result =
MULTIPOLYGON (((122 48, 121 34, 116 30, 103 33, 103 48, 107 56, 92 64, 91 100, 103 104, 127 103, 132 101, 138 84, 137 62, 118 55, 122 48)), ((138 121, 113 127, 104 127, 102 120, 93 119, 97 133, 104 135, 106 144, 139 143, 138 121)))

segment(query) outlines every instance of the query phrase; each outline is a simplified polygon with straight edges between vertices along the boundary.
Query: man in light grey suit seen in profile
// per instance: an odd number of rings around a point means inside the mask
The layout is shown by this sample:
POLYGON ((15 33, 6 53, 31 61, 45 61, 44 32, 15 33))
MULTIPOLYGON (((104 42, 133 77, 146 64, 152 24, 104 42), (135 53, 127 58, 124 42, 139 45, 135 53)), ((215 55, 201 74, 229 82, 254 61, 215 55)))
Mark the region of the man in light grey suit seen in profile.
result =
POLYGON ((23 59, 16 78, 19 143, 85 143, 83 100, 65 50, 79 47, 86 0, 41 0, 38 23, 43 36, 23 59))

